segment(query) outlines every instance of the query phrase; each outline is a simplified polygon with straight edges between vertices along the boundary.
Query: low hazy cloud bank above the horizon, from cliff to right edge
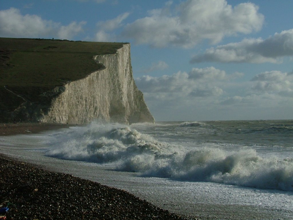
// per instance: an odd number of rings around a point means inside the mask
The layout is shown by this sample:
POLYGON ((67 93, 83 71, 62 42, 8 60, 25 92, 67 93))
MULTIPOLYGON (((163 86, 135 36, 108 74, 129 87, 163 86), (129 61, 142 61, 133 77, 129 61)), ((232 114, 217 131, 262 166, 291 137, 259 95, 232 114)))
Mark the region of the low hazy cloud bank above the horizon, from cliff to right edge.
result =
POLYGON ((162 77, 143 76, 137 87, 158 120, 239 120, 290 118, 293 72, 263 72, 246 82, 243 76, 214 67, 193 68, 162 77), (284 109, 284 111, 282 111, 284 109), (279 114, 283 112, 282 114, 279 114))

